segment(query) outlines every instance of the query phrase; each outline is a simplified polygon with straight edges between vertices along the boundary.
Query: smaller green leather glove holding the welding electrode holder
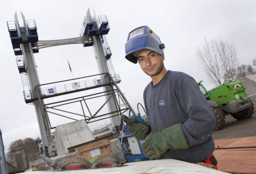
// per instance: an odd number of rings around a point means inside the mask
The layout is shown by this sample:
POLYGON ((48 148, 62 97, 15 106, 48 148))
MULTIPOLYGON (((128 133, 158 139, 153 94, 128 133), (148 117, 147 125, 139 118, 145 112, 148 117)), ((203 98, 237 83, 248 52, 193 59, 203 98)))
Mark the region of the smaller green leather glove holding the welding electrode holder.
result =
POLYGON ((139 121, 138 124, 132 124, 128 127, 129 131, 135 138, 139 140, 144 140, 145 137, 150 133, 150 123, 149 120, 147 121, 139 121))

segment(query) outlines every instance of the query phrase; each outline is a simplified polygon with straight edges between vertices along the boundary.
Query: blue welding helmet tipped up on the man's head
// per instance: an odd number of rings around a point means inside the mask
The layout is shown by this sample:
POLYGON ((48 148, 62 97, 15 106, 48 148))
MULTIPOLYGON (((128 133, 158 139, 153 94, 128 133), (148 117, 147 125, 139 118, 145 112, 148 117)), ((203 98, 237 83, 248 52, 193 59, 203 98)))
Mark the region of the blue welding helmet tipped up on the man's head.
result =
POLYGON ((130 62, 137 63, 137 53, 142 49, 150 49, 163 54, 164 44, 148 26, 140 26, 128 34, 125 43, 125 58, 130 62))

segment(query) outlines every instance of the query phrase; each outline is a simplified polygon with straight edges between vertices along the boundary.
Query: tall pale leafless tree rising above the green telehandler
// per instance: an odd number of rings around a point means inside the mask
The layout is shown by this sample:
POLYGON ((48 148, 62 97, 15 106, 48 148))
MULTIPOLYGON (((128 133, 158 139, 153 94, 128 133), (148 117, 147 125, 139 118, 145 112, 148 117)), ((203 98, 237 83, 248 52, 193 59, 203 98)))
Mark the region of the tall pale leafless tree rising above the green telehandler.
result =
POLYGON ((226 79, 235 79, 239 58, 233 43, 205 39, 204 44, 196 48, 196 56, 199 59, 199 67, 213 84, 222 84, 226 79))

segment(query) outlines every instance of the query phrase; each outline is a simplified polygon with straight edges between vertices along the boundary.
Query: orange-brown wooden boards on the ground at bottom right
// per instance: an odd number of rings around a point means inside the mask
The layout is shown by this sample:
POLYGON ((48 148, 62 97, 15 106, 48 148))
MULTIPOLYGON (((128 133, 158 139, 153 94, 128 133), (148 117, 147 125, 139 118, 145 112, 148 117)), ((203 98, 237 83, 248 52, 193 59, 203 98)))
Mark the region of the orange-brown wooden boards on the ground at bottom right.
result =
MULTIPOLYGON (((256 136, 214 140, 220 148, 256 146, 256 136)), ((218 170, 230 173, 256 174, 256 148, 215 149, 218 170)))

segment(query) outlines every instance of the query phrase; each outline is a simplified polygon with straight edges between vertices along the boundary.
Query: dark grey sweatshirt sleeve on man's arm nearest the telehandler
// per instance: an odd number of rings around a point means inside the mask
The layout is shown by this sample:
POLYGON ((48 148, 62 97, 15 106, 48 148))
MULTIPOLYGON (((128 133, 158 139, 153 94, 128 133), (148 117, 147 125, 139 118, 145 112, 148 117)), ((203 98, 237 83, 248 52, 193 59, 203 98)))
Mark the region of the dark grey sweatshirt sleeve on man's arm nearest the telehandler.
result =
POLYGON ((215 128, 215 115, 208 101, 193 78, 186 77, 179 83, 178 98, 188 119, 182 123, 190 147, 202 144, 211 137, 215 128))

